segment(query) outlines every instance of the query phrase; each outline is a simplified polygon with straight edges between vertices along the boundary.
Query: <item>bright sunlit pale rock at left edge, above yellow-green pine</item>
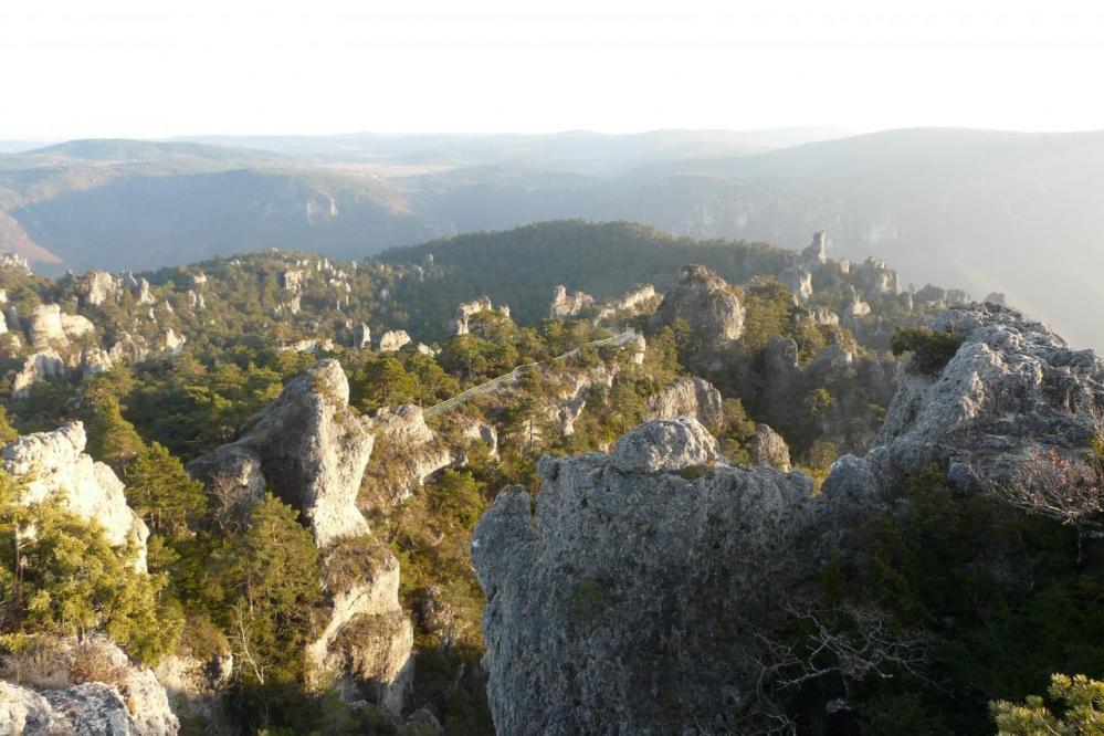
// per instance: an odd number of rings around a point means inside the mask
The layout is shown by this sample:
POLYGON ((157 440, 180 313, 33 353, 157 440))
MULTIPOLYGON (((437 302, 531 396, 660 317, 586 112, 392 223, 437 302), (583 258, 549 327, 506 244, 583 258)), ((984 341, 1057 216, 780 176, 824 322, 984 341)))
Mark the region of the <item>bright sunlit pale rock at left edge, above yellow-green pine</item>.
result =
POLYGON ((84 454, 86 442, 84 424, 76 421, 20 437, 0 454, 6 472, 28 479, 24 503, 60 494, 70 511, 98 522, 113 545, 137 542, 135 565, 145 570, 149 529, 127 506, 123 482, 112 469, 84 454))

